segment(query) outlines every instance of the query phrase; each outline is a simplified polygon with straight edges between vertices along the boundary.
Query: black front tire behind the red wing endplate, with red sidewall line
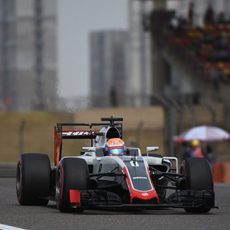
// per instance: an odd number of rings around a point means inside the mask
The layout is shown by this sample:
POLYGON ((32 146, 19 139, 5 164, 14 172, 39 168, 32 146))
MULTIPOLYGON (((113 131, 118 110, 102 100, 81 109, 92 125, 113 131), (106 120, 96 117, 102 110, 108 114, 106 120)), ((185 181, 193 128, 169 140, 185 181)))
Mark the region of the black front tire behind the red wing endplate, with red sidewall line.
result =
POLYGON ((56 200, 61 212, 82 212, 82 207, 72 207, 69 190, 87 190, 89 188, 89 169, 81 158, 63 158, 57 168, 56 200))

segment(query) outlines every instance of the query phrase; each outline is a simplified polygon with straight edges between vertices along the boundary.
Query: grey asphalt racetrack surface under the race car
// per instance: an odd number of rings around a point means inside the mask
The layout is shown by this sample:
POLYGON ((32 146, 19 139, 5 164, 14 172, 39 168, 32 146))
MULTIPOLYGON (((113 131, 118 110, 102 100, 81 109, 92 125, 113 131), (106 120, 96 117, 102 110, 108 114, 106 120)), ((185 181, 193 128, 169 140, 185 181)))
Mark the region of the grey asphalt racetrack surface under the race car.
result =
POLYGON ((20 206, 15 178, 0 178, 0 224, 32 230, 227 230, 230 229, 230 185, 215 186, 216 205, 209 214, 186 214, 182 209, 143 212, 85 211, 60 213, 47 207, 20 206))

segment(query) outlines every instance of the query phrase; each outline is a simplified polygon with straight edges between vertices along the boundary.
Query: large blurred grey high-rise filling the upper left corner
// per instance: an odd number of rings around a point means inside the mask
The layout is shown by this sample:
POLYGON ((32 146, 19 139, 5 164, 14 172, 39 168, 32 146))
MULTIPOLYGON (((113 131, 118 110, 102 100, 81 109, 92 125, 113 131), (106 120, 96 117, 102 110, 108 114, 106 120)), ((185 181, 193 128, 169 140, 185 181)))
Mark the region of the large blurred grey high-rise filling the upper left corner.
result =
POLYGON ((56 0, 0 0, 0 106, 54 109, 56 0))

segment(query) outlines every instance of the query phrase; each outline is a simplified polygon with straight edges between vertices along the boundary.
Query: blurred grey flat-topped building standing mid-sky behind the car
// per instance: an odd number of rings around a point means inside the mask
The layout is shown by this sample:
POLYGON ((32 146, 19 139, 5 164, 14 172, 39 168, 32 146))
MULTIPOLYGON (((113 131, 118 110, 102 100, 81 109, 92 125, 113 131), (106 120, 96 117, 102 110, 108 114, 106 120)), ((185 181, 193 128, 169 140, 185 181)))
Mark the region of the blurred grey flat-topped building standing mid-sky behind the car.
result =
POLYGON ((127 31, 97 31, 90 34, 90 98, 93 107, 125 104, 128 43, 127 31))

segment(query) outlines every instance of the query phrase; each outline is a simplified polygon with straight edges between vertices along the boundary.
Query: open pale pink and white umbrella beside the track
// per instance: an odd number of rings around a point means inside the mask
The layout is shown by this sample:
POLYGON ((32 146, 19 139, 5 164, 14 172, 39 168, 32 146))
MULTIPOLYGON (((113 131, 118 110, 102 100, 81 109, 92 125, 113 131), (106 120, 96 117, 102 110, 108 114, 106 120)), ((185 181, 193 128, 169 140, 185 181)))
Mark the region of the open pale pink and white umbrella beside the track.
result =
POLYGON ((224 141, 230 139, 230 134, 215 126, 196 126, 193 127, 179 136, 174 137, 177 142, 191 141, 198 139, 200 141, 224 141))

